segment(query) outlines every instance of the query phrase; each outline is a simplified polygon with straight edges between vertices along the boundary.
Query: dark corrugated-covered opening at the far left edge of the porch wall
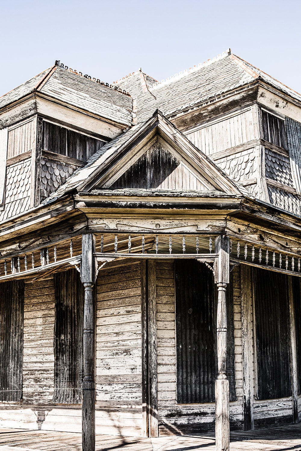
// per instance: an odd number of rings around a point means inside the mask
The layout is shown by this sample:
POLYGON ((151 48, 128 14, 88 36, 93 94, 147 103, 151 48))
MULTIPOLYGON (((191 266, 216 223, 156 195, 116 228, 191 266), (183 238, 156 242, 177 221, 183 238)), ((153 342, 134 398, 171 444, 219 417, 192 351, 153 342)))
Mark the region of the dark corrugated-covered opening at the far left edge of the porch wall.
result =
POLYGON ((24 283, 0 284, 0 400, 22 399, 24 283))

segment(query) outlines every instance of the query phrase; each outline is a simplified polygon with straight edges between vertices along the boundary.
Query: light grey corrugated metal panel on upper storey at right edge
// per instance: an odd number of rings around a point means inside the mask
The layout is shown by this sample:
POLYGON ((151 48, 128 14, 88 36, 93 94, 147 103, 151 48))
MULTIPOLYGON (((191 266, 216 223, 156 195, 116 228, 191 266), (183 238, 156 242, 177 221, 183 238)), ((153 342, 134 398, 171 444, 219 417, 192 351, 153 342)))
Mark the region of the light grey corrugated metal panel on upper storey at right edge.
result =
POLYGON ((291 160, 292 174, 295 181, 295 188, 301 193, 301 124, 286 118, 287 147, 291 160))

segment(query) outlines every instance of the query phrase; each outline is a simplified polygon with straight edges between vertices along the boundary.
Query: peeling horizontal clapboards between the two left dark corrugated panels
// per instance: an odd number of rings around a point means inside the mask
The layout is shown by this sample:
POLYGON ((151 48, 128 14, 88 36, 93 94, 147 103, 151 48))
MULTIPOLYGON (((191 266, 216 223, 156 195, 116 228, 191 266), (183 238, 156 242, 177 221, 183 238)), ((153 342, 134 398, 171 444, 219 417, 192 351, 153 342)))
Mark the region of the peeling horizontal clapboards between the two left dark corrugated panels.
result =
POLYGON ((53 398, 53 277, 25 284, 23 402, 45 404, 53 398))

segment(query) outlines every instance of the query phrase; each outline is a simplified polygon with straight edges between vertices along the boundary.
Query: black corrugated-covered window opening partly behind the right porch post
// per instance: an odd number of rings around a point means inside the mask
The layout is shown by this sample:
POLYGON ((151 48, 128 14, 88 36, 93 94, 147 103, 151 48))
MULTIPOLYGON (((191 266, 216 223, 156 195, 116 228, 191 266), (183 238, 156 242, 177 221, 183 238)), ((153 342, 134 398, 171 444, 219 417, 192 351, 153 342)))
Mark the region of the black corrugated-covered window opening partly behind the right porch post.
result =
MULTIPOLYGON (((236 399, 232 284, 227 290, 227 377, 236 399)), ((195 260, 175 261, 176 400, 213 402, 218 373, 216 343, 217 287, 213 273, 195 260)))

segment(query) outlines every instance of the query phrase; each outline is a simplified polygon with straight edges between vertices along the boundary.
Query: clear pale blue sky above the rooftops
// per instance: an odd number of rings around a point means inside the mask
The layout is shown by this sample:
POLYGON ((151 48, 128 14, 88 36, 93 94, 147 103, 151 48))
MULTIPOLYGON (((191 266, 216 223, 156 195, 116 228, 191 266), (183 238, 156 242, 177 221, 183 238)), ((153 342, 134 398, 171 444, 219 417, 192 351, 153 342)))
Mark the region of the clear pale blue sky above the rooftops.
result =
POLYGON ((301 1, 0 0, 0 95, 58 59, 111 83, 233 53, 301 92, 301 1))

